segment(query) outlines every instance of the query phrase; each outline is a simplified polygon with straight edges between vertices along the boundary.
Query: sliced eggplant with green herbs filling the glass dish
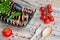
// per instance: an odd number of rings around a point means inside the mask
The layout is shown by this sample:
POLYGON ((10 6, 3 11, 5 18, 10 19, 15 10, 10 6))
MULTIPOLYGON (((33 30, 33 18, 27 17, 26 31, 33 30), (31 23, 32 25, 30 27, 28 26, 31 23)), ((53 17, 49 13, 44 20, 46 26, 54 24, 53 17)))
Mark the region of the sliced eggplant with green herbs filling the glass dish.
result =
POLYGON ((24 8, 9 0, 0 0, 0 20, 13 26, 23 27, 35 13, 33 8, 24 8))

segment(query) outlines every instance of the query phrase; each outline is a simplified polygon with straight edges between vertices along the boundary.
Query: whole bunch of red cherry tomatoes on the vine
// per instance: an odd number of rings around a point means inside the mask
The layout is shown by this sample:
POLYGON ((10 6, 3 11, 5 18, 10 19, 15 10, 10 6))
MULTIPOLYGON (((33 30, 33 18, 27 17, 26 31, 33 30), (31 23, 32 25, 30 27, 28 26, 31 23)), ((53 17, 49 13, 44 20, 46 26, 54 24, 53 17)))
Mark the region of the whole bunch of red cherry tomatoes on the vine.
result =
POLYGON ((54 17, 52 16, 52 5, 48 4, 47 7, 40 7, 41 17, 46 24, 54 21, 54 17))

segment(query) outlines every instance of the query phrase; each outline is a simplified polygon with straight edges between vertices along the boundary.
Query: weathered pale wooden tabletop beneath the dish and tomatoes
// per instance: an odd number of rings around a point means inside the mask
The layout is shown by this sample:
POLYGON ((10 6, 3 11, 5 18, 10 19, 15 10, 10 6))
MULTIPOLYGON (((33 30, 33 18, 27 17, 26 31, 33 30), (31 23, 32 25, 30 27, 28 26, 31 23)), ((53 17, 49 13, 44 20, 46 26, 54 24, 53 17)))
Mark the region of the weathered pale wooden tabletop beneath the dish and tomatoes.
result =
MULTIPOLYGON (((18 4, 28 5, 20 0, 14 0, 18 4)), ((25 0, 37 7, 46 6, 47 4, 52 4, 53 6, 53 16, 55 21, 50 24, 44 24, 44 22, 40 19, 41 12, 37 9, 36 13, 34 14, 33 18, 29 22, 29 24, 24 29, 14 28, 8 24, 2 23, 0 21, 0 40, 6 39, 2 36, 2 30, 5 27, 11 27, 13 30, 13 35, 10 37, 10 40, 39 40, 41 36, 41 31, 44 27, 48 25, 53 28, 53 32, 47 38, 43 40, 60 40, 60 0, 25 0), (38 31, 37 31, 38 30, 38 31), (34 36, 37 32, 37 36, 34 36), (39 34, 38 34, 39 33, 39 34)), ((33 8, 35 8, 33 6, 33 8)), ((6 39, 7 40, 7 39, 6 39)))

